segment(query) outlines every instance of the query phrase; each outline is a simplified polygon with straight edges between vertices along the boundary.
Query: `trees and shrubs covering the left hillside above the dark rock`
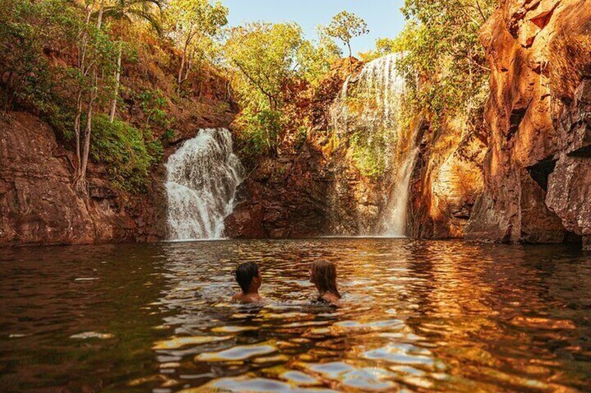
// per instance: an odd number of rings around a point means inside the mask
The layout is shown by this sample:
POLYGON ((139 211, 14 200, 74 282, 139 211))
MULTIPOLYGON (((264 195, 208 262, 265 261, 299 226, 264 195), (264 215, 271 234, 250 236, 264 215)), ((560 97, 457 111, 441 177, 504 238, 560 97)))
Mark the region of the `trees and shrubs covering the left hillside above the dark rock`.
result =
POLYGON ((200 87, 220 79, 211 64, 226 15, 208 0, 0 0, 2 109, 56 129, 82 195, 89 159, 107 163, 120 189, 142 191, 174 115, 198 117, 200 87))

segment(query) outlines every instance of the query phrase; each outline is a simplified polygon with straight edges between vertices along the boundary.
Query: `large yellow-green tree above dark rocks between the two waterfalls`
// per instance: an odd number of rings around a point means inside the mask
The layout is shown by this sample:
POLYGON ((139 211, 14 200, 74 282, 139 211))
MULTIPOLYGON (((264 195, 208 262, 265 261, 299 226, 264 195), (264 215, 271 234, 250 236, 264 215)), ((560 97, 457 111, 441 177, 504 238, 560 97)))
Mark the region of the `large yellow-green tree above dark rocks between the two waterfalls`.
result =
POLYGON ((256 154, 277 155, 286 131, 284 97, 290 82, 302 75, 298 57, 303 47, 307 44, 297 24, 257 22, 229 31, 224 54, 235 72, 233 88, 242 107, 237 124, 256 154))

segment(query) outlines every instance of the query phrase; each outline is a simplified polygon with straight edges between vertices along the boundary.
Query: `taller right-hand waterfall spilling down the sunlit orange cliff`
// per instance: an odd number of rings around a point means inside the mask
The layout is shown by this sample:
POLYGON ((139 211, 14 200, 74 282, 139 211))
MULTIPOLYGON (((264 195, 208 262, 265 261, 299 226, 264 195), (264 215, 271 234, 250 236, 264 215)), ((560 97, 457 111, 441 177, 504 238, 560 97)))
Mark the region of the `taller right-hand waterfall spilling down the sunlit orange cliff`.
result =
POLYGON ((370 235, 405 236, 410 176, 419 149, 416 130, 401 125, 404 77, 397 72, 400 54, 390 54, 364 65, 349 77, 332 106, 332 127, 337 136, 362 134, 368 141, 382 138, 387 146, 385 166, 390 174, 390 193, 370 235))

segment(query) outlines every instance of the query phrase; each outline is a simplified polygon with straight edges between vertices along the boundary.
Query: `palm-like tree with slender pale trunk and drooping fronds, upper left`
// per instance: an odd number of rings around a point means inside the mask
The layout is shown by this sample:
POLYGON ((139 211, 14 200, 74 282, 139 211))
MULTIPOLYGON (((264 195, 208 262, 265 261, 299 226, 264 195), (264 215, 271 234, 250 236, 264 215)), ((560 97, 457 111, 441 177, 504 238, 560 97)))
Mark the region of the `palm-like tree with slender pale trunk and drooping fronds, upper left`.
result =
POLYGON ((155 10, 162 6, 161 0, 116 0, 113 5, 105 7, 105 19, 113 19, 116 22, 115 29, 118 35, 117 61, 115 69, 114 93, 109 106, 109 122, 115 119, 117 109, 117 97, 121 79, 121 58, 123 57, 123 33, 125 24, 132 24, 135 21, 147 22, 155 31, 161 32, 160 21, 155 10))

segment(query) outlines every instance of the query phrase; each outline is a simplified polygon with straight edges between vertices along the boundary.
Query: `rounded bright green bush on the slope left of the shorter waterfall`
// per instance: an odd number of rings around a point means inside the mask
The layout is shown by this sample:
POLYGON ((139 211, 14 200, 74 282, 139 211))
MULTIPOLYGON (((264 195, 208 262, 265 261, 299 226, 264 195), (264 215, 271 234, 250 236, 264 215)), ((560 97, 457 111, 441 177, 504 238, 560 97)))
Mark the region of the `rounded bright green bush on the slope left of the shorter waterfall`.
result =
POLYGON ((107 115, 93 118, 91 155, 107 165, 115 186, 131 192, 146 190, 149 170, 162 157, 162 145, 150 131, 126 122, 109 122, 107 115))

